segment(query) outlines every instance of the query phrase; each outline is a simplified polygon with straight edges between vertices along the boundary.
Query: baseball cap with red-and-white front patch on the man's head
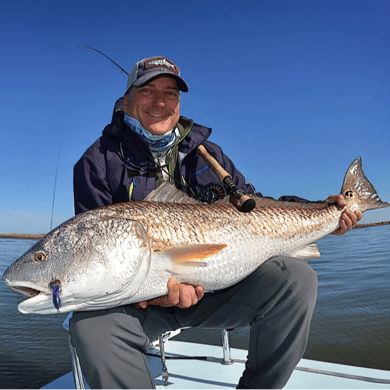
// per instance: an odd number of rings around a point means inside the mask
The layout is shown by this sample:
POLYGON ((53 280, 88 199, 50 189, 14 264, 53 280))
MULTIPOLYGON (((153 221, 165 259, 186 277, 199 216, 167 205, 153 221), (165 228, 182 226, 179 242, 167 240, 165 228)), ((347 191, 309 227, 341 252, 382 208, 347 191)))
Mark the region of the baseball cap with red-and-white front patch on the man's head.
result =
POLYGON ((172 77, 182 92, 188 92, 186 82, 180 77, 179 68, 165 57, 150 57, 138 61, 127 79, 126 92, 132 87, 142 87, 157 76, 172 77))

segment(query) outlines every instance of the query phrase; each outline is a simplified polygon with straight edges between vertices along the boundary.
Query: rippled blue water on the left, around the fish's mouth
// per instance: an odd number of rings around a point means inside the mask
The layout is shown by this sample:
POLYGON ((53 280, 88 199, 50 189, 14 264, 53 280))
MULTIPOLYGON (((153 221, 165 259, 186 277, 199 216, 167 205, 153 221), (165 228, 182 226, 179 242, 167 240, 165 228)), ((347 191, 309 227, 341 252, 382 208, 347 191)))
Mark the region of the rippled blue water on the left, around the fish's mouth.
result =
MULTIPOLYGON (((36 241, 0 239, 0 274, 36 241)), ((0 281, 0 388, 38 389, 71 369, 66 315, 23 315, 17 305, 26 297, 0 281)))

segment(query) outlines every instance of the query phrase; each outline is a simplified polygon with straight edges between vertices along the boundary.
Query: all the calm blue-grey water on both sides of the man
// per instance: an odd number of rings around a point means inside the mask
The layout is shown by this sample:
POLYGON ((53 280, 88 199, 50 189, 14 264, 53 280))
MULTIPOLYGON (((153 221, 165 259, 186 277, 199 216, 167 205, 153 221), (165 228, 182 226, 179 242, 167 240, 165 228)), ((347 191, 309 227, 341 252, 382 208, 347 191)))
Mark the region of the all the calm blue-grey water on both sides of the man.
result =
MULTIPOLYGON (((0 239, 0 274, 35 241, 0 239)), ((390 226, 329 236, 310 260, 319 296, 305 358, 390 370, 390 226)), ((22 315, 24 299, 0 281, 0 388, 34 389, 71 370, 66 315, 22 315)), ((246 348, 248 329, 231 334, 246 348)), ((220 331, 186 330, 186 341, 220 345, 220 331)))

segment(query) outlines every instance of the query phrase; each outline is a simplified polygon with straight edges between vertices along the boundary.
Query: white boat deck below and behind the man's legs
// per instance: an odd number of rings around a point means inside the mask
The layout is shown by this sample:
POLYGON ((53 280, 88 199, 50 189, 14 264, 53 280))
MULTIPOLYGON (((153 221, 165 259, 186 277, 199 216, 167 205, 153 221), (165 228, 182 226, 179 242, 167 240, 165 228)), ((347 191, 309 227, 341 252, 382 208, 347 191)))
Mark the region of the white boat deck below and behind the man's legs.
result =
MULTIPOLYGON (((150 351, 150 354, 159 353, 159 349, 150 351)), ((165 355, 168 386, 161 377, 161 359, 148 356, 157 389, 221 390, 236 388, 244 370, 247 352, 232 348, 230 355, 233 364, 223 365, 222 347, 169 340, 165 344, 165 355)), ((42 389, 72 388, 75 386, 70 372, 42 389)), ((390 371, 302 359, 284 389, 390 390, 390 371)))

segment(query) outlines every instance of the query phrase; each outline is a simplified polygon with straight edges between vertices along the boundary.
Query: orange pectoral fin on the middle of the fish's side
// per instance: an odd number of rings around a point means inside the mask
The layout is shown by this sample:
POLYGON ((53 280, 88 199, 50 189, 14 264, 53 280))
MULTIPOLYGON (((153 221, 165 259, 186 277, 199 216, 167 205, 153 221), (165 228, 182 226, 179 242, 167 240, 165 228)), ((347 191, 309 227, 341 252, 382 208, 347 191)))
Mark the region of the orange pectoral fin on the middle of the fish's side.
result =
POLYGON ((163 253, 176 264, 188 267, 206 267, 204 261, 208 257, 216 255, 226 244, 199 244, 187 245, 165 250, 163 253))

